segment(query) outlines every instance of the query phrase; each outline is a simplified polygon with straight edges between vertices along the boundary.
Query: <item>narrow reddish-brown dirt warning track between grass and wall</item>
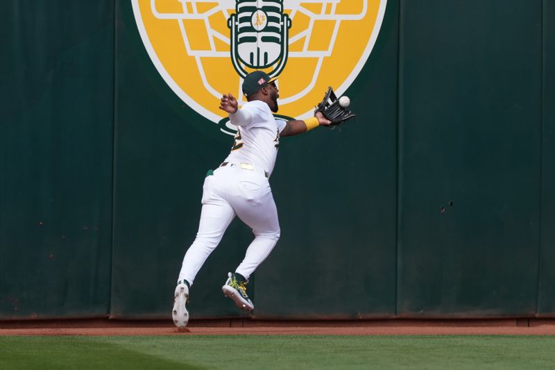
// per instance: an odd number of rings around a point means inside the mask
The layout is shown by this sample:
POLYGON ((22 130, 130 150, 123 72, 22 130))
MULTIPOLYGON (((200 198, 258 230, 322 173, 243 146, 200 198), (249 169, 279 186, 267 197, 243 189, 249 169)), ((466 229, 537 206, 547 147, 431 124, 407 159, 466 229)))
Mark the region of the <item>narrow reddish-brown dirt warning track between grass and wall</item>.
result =
POLYGON ((0 335, 555 335, 553 319, 191 321, 184 333, 171 321, 109 319, 2 321, 0 335))

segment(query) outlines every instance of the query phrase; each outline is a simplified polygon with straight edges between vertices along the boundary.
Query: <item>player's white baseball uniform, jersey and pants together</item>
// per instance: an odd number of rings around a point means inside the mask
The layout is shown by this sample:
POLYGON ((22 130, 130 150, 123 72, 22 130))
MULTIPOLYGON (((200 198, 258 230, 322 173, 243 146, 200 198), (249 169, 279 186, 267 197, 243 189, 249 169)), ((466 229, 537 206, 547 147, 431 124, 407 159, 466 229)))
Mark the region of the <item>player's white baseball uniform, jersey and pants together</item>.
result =
POLYGON ((278 210, 268 178, 278 155, 284 121, 277 121, 263 101, 249 101, 234 115, 238 128, 232 151, 213 176, 205 178, 198 233, 185 253, 178 280, 193 284, 208 255, 237 215, 255 239, 235 270, 248 279, 270 254, 280 237, 278 210))

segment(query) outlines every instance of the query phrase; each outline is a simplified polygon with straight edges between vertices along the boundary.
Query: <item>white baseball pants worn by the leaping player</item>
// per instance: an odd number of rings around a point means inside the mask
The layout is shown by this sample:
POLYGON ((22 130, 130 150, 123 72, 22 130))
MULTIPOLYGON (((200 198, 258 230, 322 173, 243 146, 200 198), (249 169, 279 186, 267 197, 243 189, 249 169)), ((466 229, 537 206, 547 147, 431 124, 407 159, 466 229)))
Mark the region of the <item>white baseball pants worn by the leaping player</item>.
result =
POLYGON ((235 215, 255 234, 236 273, 248 279, 278 242, 280 224, 270 183, 264 170, 252 168, 230 163, 205 178, 198 233, 185 253, 178 280, 193 284, 200 267, 216 249, 235 215))

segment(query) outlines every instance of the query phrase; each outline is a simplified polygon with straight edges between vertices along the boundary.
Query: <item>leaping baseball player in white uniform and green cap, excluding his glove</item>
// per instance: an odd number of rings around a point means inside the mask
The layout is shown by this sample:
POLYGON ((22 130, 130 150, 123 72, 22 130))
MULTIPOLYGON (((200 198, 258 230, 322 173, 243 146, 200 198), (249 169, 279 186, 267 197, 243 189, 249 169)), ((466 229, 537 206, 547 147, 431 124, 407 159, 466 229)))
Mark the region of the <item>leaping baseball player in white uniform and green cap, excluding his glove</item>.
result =
POLYGON ((242 310, 254 310, 247 294, 248 278, 280 238, 278 210, 268 183, 280 137, 331 123, 321 112, 305 121, 276 120, 272 112, 278 112, 279 90, 275 79, 262 71, 247 74, 242 88, 247 99, 242 108, 232 94, 221 98, 219 108, 228 112, 231 123, 237 126, 237 135, 231 153, 217 169, 208 171, 204 181, 198 233, 183 258, 174 294, 172 317, 178 328, 185 328, 189 321, 189 288, 196 274, 236 215, 253 230, 255 239, 243 262, 234 273, 228 273, 222 291, 242 310))

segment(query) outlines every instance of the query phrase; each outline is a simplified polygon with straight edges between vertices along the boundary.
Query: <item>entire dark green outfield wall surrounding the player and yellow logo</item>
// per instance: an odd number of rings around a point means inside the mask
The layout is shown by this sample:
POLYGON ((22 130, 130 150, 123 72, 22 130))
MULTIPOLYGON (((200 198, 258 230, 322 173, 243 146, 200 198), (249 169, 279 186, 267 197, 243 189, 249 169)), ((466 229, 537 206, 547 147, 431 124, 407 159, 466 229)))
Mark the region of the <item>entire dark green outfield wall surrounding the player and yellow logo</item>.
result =
MULTIPOLYGON (((0 5, 0 319, 169 319, 232 137, 160 72, 142 1, 0 5)), ((256 310, 221 293, 235 220, 191 317, 555 317, 555 1, 388 0, 355 77, 355 121, 280 142, 256 310)))

